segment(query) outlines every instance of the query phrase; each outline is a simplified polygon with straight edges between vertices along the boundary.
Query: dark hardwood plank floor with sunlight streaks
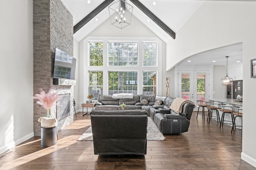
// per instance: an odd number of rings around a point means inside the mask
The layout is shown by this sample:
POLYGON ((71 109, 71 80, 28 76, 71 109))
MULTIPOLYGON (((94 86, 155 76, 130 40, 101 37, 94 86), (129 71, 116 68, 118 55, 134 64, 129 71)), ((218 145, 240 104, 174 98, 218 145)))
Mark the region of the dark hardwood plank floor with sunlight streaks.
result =
MULTIPOLYGON (((206 117, 207 119, 207 117, 206 117)), ((164 135, 165 141, 148 141, 144 156, 94 155, 92 141, 77 141, 90 127, 90 115, 78 113, 72 122, 58 132, 60 139, 53 147, 41 148, 40 137, 0 155, 0 170, 256 170, 241 160, 242 135, 236 129, 212 120, 210 124, 193 113, 189 131, 164 135)))

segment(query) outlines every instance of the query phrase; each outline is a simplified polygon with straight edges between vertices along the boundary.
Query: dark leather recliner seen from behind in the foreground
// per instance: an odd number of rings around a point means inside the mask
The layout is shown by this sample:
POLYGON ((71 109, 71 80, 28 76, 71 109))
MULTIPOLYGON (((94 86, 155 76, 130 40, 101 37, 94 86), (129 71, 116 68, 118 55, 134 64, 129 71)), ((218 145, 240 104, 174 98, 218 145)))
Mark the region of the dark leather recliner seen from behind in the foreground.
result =
POLYGON ((146 154, 146 111, 92 110, 90 116, 94 154, 146 154))

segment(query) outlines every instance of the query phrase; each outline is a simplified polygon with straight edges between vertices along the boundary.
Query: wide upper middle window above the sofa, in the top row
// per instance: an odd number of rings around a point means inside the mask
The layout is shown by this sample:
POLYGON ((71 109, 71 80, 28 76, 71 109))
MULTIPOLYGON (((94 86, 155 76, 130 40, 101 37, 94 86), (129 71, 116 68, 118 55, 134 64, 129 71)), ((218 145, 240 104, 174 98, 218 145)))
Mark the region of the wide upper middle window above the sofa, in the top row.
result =
POLYGON ((138 43, 135 42, 109 42, 109 66, 137 66, 138 43))

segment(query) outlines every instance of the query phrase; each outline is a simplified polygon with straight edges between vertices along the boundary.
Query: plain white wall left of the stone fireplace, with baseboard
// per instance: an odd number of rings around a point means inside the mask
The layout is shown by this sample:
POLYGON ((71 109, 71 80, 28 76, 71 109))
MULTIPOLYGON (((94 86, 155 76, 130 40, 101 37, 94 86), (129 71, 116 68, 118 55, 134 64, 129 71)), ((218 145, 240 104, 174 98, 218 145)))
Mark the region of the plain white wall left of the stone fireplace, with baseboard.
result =
POLYGON ((1 154, 34 136, 33 0, 0 1, 0 21, 1 154))

